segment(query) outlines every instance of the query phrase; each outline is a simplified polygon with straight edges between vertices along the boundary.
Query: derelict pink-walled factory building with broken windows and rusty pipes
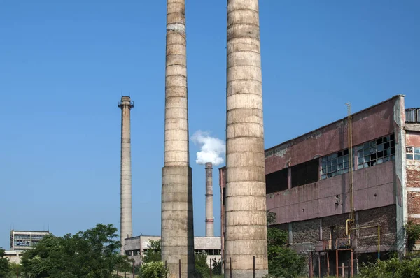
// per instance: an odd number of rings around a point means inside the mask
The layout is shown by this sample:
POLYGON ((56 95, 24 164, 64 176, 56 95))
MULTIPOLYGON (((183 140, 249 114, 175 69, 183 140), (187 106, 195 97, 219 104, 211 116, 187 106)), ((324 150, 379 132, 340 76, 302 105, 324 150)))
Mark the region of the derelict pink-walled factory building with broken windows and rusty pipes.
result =
MULTIPOLYGON (((224 255, 226 168, 219 174, 224 255)), ((420 223, 420 109, 397 95, 266 149, 265 179, 267 210, 311 275, 404 254, 405 224, 420 223)))

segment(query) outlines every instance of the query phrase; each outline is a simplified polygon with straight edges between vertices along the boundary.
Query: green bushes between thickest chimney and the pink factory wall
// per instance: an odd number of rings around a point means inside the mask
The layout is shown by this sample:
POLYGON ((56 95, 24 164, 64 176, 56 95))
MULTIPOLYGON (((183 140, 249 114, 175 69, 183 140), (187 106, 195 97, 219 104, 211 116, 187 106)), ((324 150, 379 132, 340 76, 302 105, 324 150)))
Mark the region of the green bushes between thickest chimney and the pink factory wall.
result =
MULTIPOLYGON (((276 223, 276 214, 267 211, 267 224, 276 223)), ((268 272, 267 277, 295 278, 302 275, 306 266, 304 256, 286 247, 288 235, 279 228, 267 227, 268 272)))

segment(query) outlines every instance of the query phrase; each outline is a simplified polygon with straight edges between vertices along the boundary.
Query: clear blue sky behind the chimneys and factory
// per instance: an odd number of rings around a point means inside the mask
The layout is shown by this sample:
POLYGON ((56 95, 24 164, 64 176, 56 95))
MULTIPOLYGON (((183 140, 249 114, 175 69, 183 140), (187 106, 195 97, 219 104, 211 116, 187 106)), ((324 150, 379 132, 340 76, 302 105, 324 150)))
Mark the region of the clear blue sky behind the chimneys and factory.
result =
MULTIPOLYGON (((226 1, 187 1, 190 134, 225 138, 226 1)), ((419 1, 260 1, 265 146, 406 94, 420 106, 419 1)), ((121 94, 134 235, 160 233, 166 1, 0 0, 0 247, 9 230, 119 227, 121 94)), ((190 144, 191 161, 198 147, 190 144)), ((204 235, 204 166, 193 167, 204 235)), ((220 234, 218 171, 215 231, 220 234)))

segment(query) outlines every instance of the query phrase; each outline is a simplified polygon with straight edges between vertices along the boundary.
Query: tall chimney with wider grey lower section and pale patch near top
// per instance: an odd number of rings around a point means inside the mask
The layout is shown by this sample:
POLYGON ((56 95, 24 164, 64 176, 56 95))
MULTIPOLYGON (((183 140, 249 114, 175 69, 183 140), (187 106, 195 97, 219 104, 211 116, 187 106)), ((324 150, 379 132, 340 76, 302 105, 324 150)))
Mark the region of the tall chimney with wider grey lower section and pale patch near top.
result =
POLYGON ((165 166, 162 168, 162 261, 169 272, 194 271, 193 184, 189 160, 185 0, 167 0, 165 166))

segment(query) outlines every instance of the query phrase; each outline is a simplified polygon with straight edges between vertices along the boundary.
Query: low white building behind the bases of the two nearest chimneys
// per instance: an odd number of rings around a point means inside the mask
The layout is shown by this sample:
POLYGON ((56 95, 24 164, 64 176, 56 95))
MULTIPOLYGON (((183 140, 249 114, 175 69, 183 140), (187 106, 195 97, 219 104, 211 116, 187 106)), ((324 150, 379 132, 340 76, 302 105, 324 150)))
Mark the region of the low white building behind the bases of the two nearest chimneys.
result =
MULTIPOLYGON (((134 259, 136 265, 141 264, 141 256, 145 251, 151 248, 151 241, 160 240, 160 236, 140 235, 138 237, 129 237, 125 239, 125 254, 134 259)), ((194 237, 194 253, 207 254, 207 264, 210 259, 216 258, 221 261, 221 237, 194 237)))

